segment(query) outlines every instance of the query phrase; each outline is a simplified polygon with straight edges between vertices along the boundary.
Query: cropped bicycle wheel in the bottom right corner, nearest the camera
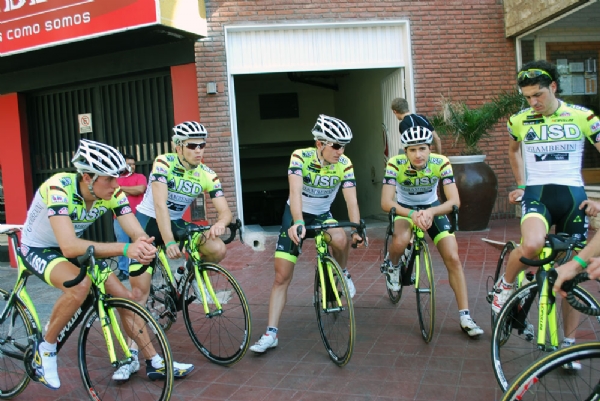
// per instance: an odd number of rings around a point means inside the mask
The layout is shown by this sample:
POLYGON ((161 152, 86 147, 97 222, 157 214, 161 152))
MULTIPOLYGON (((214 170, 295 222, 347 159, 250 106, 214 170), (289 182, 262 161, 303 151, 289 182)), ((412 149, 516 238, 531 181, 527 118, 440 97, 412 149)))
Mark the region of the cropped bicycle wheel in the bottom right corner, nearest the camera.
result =
POLYGON ((511 383, 502 401, 599 400, 600 343, 576 344, 548 354, 526 368, 511 383), (582 369, 565 371, 566 363, 579 361, 582 369))

